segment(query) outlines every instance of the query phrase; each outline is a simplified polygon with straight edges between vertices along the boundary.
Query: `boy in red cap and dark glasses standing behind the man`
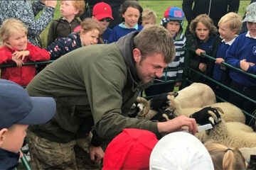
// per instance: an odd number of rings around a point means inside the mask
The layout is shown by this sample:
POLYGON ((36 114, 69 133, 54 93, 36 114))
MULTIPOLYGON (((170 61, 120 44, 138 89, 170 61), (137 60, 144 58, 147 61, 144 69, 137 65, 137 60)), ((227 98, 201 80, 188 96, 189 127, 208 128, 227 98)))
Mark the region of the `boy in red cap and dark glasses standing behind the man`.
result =
MULTIPOLYGON (((112 8, 105 2, 95 4, 95 6, 92 8, 92 19, 95 19, 95 21, 97 21, 97 23, 101 26, 102 30, 104 31, 102 41, 104 44, 107 44, 107 40, 112 32, 112 29, 109 28, 110 21, 114 20, 112 17, 112 8)), ((75 28, 74 32, 80 28, 80 26, 75 28)))

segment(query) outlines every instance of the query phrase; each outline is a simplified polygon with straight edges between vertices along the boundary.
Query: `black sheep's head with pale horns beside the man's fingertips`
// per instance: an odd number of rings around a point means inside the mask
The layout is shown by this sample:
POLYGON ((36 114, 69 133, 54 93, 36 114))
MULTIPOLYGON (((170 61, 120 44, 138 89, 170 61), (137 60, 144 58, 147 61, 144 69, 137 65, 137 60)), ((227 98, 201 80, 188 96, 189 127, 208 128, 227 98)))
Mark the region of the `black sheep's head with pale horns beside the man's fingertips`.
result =
POLYGON ((197 111, 190 115, 190 118, 196 119, 196 123, 199 125, 206 125, 210 123, 213 125, 218 125, 221 122, 220 113, 223 113, 221 108, 218 107, 206 107, 202 108, 200 111, 197 111))

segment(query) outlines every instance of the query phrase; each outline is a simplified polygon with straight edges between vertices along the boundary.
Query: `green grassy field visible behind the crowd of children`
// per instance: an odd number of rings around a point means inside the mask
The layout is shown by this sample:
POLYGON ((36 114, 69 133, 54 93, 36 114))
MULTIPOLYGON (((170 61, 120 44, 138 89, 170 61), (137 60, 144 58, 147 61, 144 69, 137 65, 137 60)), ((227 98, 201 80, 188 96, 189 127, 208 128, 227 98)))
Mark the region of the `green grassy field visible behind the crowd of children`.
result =
MULTIPOLYGON (((141 6, 143 8, 150 8, 154 11, 156 11, 157 14, 157 23, 160 24, 161 18, 163 18, 164 15, 164 11, 166 10, 166 8, 168 8, 169 6, 178 6, 180 8, 182 1, 139 1, 139 4, 141 4, 141 6)), ((240 8, 238 11, 238 14, 240 16, 243 16, 245 13, 245 8, 250 4, 250 1, 240 1, 240 8)), ((60 3, 58 2, 58 6, 56 7, 55 10, 55 14, 54 14, 54 18, 59 18, 60 17, 60 3)), ((187 22, 184 22, 183 28, 186 28, 187 26, 187 22)), ((43 32, 41 33, 41 39, 43 42, 43 47, 46 46, 46 41, 47 41, 47 35, 48 35, 48 28, 49 26, 43 30, 43 32)), ((184 29, 185 30, 185 29, 184 29)))

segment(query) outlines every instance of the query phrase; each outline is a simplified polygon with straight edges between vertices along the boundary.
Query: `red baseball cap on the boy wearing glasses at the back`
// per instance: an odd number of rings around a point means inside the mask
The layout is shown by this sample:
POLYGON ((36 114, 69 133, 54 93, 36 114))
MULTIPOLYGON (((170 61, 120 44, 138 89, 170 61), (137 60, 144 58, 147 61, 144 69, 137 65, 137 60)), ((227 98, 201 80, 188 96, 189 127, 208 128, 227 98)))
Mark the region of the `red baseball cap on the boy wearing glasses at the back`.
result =
POLYGON ((92 16, 95 16, 97 20, 101 20, 103 18, 112 18, 112 9, 109 4, 106 4, 105 2, 100 2, 95 4, 92 8, 92 16))

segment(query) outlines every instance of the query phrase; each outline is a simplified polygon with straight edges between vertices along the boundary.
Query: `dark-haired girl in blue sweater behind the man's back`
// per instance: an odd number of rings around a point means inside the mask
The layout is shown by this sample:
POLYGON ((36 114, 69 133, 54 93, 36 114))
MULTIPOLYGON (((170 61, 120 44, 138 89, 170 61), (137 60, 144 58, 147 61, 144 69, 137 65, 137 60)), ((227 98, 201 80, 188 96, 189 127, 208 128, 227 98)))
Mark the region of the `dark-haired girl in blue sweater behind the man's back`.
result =
POLYGON ((138 24, 142 14, 142 6, 137 1, 124 1, 124 4, 120 7, 120 13, 124 22, 114 26, 108 43, 116 42, 122 36, 134 30, 140 31, 143 28, 143 26, 138 24))

